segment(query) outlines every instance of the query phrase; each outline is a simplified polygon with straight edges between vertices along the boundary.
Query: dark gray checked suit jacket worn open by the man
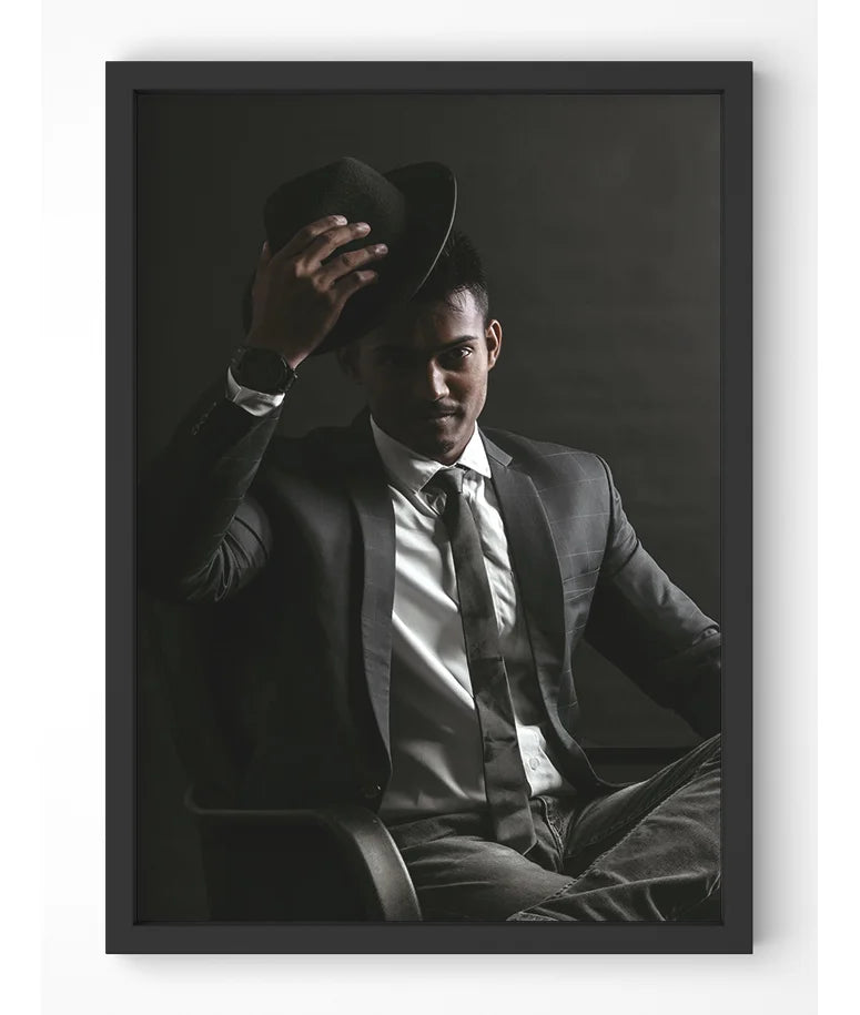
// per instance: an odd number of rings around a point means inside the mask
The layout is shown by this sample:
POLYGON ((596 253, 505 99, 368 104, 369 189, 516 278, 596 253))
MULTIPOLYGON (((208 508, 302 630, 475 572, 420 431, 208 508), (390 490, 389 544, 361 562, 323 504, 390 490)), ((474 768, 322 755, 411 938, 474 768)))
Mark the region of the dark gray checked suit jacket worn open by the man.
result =
MULTIPOLYGON (((275 436, 220 382, 141 485, 139 575, 212 603, 212 680, 235 718, 239 801, 375 806, 389 775, 394 516, 364 413, 275 436)), ((482 430, 535 673, 565 775, 605 785, 576 741, 581 638, 700 734, 720 728, 718 626, 671 583, 596 455, 482 430)))

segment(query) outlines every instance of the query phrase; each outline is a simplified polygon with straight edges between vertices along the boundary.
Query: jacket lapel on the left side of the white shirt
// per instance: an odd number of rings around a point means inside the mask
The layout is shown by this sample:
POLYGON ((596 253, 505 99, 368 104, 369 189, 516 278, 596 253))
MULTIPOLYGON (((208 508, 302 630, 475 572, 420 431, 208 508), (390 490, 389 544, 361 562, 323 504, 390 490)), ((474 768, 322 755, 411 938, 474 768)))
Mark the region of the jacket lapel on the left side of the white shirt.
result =
POLYGON ((361 413, 341 447, 341 467, 362 535, 364 580, 361 636, 371 706, 385 749, 391 753, 392 610, 394 606, 394 509, 382 461, 373 443, 370 416, 361 413))

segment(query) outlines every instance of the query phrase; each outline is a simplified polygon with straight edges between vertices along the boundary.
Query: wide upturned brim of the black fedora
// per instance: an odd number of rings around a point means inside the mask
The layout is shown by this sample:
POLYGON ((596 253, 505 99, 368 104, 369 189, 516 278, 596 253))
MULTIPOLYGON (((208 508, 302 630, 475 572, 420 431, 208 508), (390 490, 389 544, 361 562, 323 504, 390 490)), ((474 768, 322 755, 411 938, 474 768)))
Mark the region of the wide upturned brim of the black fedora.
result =
MULTIPOLYGON (((395 306, 409 301, 429 277, 451 233, 457 206, 457 182, 448 166, 439 162, 419 162, 383 175, 405 199, 406 232, 397 244, 397 256, 391 262, 378 262, 378 281, 358 290, 346 301, 337 323, 312 355, 328 353, 360 338, 382 323, 395 306)), ((340 247, 336 255, 384 238, 371 235, 370 241, 353 241, 340 247)), ((373 266, 376 270, 377 263, 373 266)), ((251 283, 243 301, 246 329, 250 326, 251 283)))

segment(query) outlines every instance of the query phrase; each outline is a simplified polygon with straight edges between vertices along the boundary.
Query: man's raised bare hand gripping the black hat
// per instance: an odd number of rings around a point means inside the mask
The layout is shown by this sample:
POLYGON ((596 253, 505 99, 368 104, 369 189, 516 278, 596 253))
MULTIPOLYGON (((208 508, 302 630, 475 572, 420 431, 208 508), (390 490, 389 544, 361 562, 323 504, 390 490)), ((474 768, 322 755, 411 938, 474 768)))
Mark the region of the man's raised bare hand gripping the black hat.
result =
POLYGON ((300 230, 274 256, 264 243, 251 291, 247 344, 276 349, 294 369, 310 356, 350 296, 376 281, 376 272, 364 265, 384 257, 387 247, 371 244, 323 261, 370 231, 366 222, 330 215, 300 230))

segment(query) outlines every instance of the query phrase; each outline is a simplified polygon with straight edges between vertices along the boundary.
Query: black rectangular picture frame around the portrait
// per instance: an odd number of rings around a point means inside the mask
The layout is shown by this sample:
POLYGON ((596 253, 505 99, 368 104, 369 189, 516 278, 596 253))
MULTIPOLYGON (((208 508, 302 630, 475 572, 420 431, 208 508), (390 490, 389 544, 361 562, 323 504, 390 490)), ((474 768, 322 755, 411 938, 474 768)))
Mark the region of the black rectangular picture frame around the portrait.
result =
POLYGON ((742 953, 752 948, 752 64, 107 64, 107 951, 742 953), (721 924, 135 922, 135 103, 194 92, 709 93, 722 123, 724 917, 721 924), (730 412, 727 410, 730 407, 730 412))

